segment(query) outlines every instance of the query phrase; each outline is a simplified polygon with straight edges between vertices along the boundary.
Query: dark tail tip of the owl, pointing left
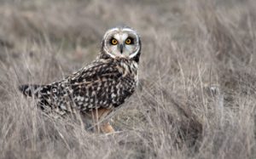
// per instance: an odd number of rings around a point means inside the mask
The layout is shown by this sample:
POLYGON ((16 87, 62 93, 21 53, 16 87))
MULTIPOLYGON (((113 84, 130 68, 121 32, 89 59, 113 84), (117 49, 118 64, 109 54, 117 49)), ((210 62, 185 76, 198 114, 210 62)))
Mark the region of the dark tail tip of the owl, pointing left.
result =
POLYGON ((25 96, 30 96, 32 97, 35 96, 35 97, 38 97, 38 94, 41 92, 42 88, 44 87, 44 85, 37 85, 37 84, 32 84, 32 85, 29 85, 29 84, 24 84, 24 85, 20 85, 19 86, 19 89, 20 89, 20 92, 22 94, 24 94, 25 96))

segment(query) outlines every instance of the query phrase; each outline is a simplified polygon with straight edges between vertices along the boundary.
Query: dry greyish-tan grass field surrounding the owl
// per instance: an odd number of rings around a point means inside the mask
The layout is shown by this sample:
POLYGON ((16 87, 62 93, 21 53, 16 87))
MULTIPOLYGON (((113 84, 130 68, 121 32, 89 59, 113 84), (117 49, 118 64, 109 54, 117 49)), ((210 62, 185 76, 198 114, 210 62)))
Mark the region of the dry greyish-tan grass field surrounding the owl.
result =
POLYGON ((255 158, 253 0, 2 0, 0 158, 255 158), (113 134, 45 116, 18 91, 94 60, 102 36, 142 38, 139 87, 113 134))

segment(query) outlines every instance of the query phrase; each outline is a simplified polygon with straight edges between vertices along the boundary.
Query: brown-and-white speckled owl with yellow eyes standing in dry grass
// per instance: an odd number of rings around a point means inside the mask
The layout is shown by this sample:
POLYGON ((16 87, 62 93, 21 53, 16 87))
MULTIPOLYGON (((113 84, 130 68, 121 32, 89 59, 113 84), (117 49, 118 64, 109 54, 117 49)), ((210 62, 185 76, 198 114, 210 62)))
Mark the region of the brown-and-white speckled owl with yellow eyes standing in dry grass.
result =
POLYGON ((36 99, 45 113, 79 113, 82 121, 96 123, 98 131, 112 133, 108 120, 133 94, 138 84, 141 39, 127 26, 108 30, 96 60, 64 79, 46 85, 25 84, 19 89, 36 99))

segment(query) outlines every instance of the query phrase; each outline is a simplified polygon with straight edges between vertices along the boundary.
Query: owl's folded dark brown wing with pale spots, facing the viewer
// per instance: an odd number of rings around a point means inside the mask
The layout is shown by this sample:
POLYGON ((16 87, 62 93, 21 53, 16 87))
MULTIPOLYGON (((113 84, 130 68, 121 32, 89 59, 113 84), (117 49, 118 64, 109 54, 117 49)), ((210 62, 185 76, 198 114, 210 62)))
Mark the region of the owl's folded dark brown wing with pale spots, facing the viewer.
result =
POLYGON ((94 65, 78 76, 67 80, 67 89, 73 102, 82 111, 94 108, 117 107, 134 92, 134 79, 123 72, 119 65, 102 63, 94 65))

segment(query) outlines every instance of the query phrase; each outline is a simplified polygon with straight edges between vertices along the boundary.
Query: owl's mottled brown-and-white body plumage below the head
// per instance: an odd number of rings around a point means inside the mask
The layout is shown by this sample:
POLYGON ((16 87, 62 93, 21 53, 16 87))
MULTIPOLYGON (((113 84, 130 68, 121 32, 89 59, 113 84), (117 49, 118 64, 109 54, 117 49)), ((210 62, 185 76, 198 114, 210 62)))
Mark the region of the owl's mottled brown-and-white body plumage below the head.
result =
POLYGON ((61 111, 71 111, 70 107, 80 111, 113 108, 134 93, 137 80, 135 61, 96 60, 60 82, 37 88, 34 95, 41 104, 61 111))

